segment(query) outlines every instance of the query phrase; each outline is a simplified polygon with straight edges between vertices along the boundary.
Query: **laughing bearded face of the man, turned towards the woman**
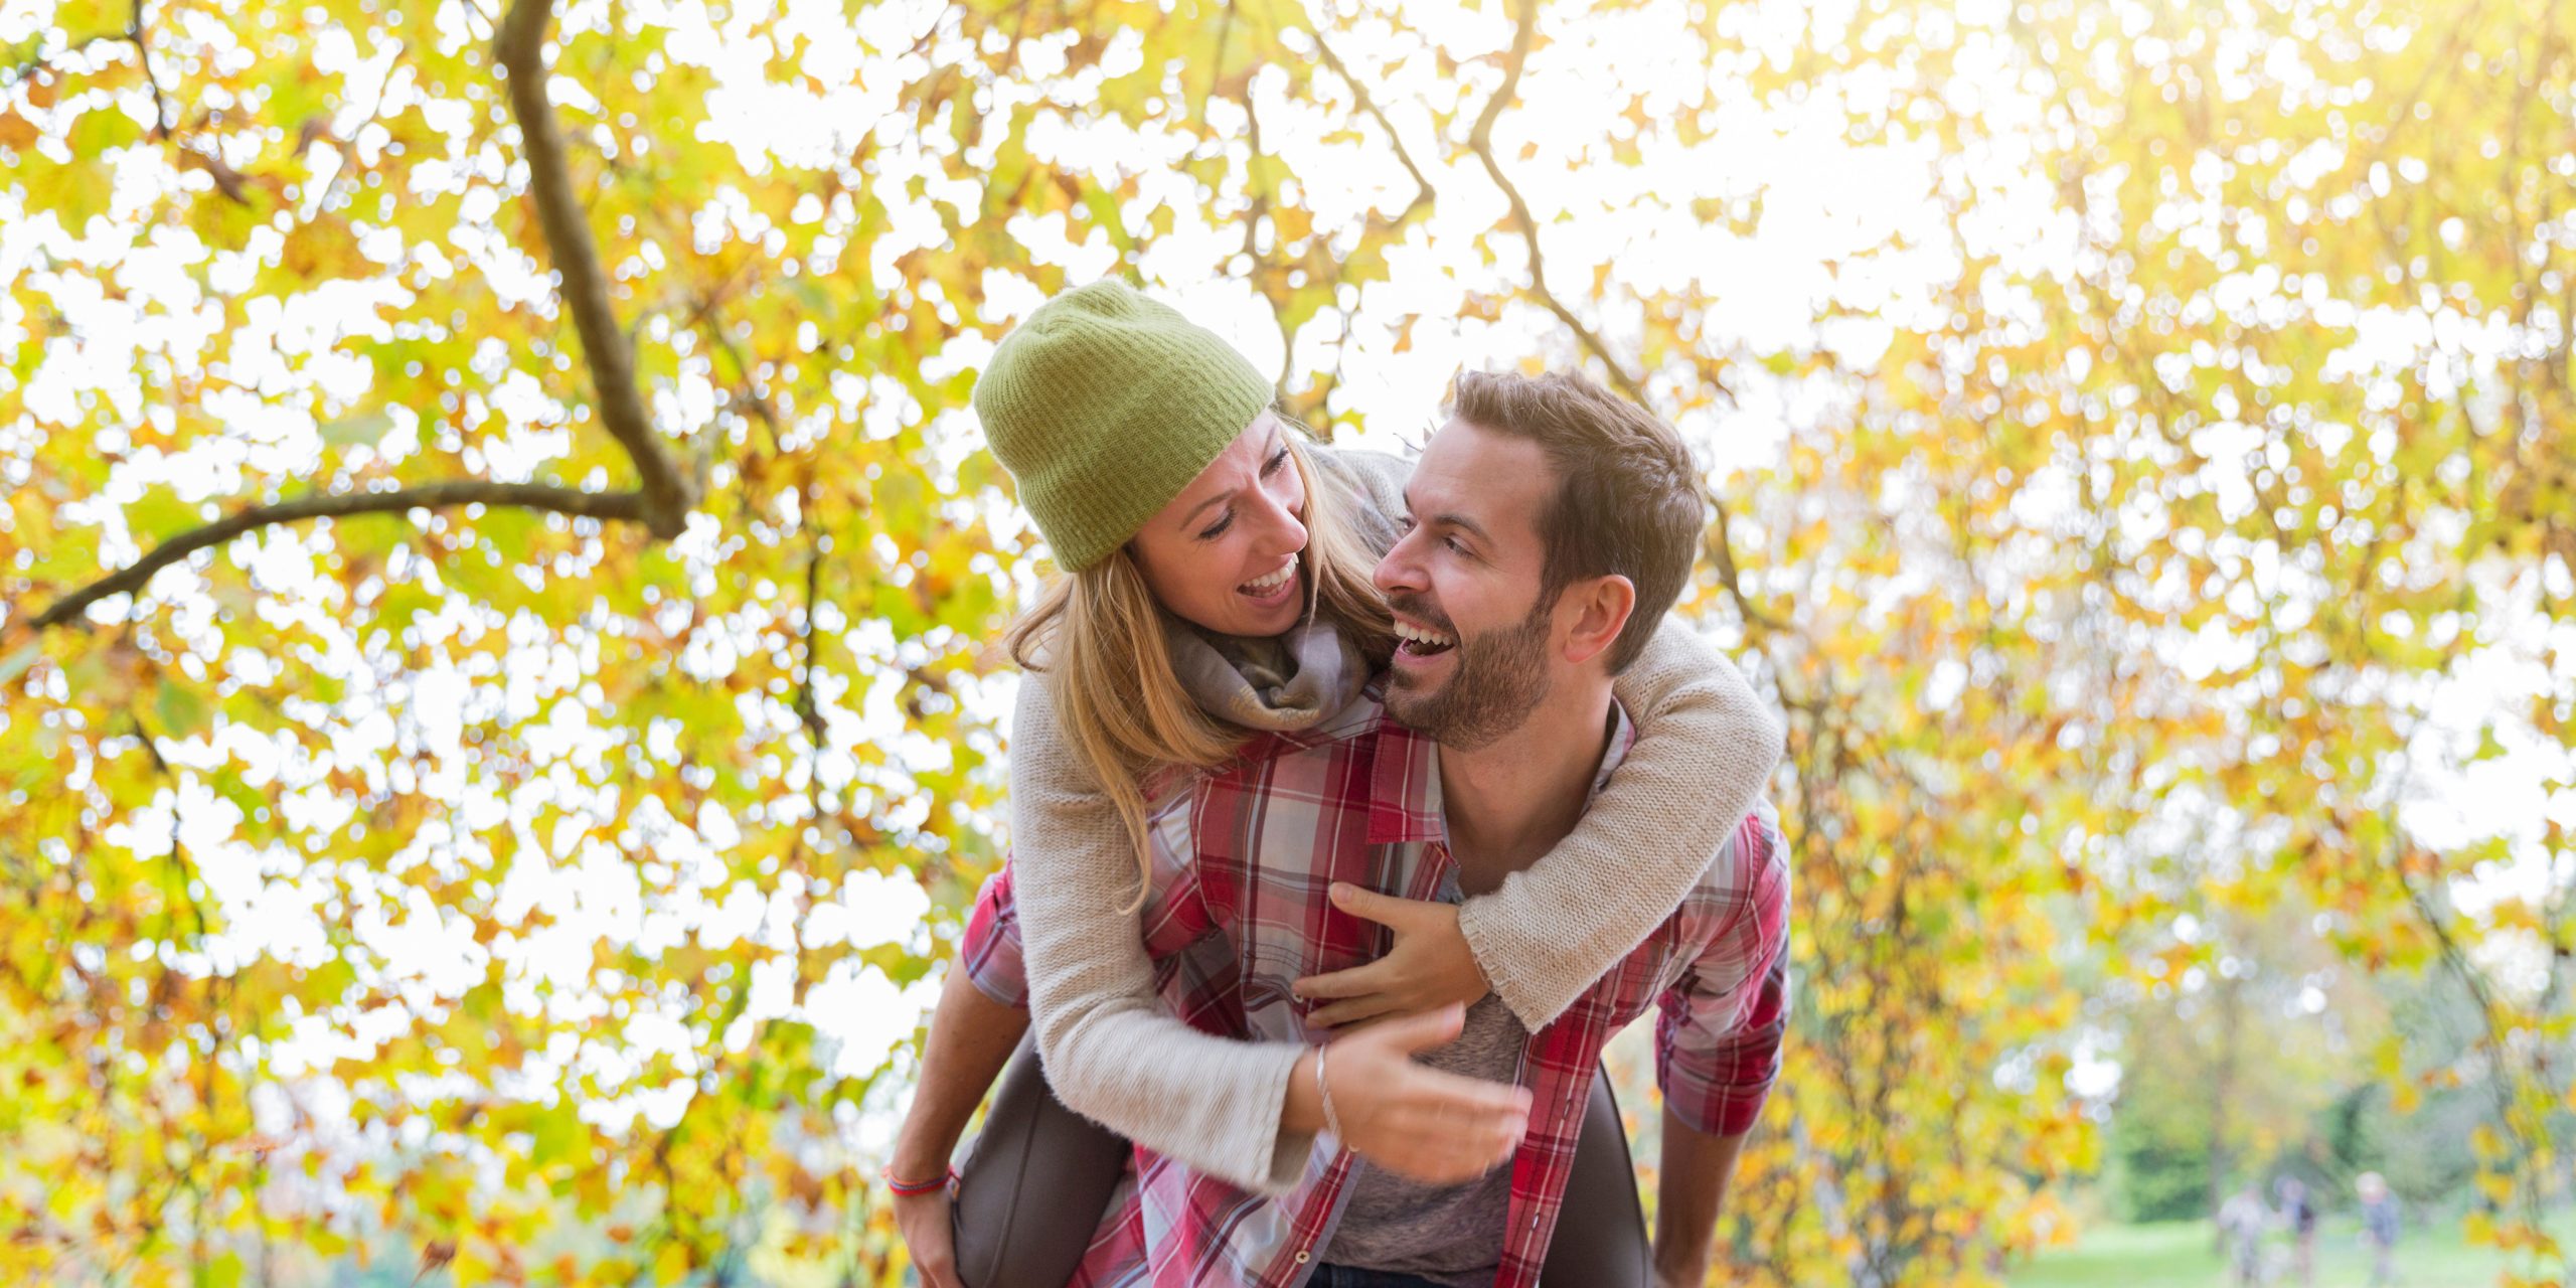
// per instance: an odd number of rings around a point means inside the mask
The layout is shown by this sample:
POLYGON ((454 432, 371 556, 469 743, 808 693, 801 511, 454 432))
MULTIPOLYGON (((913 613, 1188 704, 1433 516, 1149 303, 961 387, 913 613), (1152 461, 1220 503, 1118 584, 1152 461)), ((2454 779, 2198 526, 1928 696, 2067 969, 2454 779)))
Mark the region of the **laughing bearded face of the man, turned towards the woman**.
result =
POLYGON ((1553 603, 1538 603, 1538 513, 1556 469, 1528 438, 1450 420, 1404 487, 1412 526, 1378 562, 1396 611, 1386 714, 1445 747, 1512 732, 1548 696, 1553 603))

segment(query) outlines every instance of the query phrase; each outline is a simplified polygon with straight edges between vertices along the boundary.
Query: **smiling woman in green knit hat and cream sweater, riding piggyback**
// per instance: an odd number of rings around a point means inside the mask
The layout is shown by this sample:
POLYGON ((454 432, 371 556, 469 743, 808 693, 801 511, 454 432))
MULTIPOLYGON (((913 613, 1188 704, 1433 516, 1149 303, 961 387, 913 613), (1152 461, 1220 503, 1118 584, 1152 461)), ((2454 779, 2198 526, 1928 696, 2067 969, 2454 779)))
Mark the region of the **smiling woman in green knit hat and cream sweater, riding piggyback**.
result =
MULTIPOLYGON (((1164 1012, 1133 917, 1149 799, 1224 762, 1247 732, 1340 711, 1394 647, 1370 564, 1396 533, 1404 466, 1303 446, 1270 397, 1224 340, 1121 283, 1033 312, 974 394, 1066 569, 1012 629, 1030 670, 1012 734, 1012 871, 1048 1082, 1139 1144, 1280 1190, 1314 1128, 1314 1051, 1216 1038, 1164 1012)), ((1656 631, 1618 696, 1641 739, 1582 827, 1458 909, 1355 909, 1401 922, 1399 935, 1370 966, 1298 981, 1334 999, 1319 1025, 1492 989, 1535 1030, 1672 912, 1767 781, 1780 726, 1687 631, 1656 631), (1620 873, 1615 891, 1602 871, 1620 873)), ((961 974, 933 1015, 889 1167, 930 1283, 951 1255, 935 1180, 1025 1023, 961 974)), ((1360 1157, 1450 1182, 1510 1154, 1517 1090, 1401 1074, 1401 1051, 1373 1066, 1337 1048, 1329 1092, 1360 1157)))

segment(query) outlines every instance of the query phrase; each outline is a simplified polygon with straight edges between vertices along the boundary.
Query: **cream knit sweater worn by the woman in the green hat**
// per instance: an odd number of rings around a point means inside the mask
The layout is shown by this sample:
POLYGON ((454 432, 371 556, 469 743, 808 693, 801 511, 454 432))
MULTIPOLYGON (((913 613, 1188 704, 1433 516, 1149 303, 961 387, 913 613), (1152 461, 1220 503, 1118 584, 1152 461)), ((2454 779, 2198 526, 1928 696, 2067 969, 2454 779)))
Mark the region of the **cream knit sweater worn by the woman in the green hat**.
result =
MULTIPOLYGON (((1363 528, 1388 533, 1409 466, 1355 451, 1316 456, 1365 507, 1363 528)), ((1592 811, 1458 914, 1494 994, 1530 1030, 1672 914, 1780 760, 1780 721, 1734 662, 1677 618, 1615 690, 1638 739, 1592 811)), ((1121 912, 1136 884, 1133 845, 1061 734, 1043 672, 1020 685, 1010 801, 1028 1002, 1056 1095, 1188 1167, 1285 1193, 1311 1146, 1280 1131, 1288 1074, 1306 1048, 1208 1036, 1162 1007, 1136 917, 1121 912)))

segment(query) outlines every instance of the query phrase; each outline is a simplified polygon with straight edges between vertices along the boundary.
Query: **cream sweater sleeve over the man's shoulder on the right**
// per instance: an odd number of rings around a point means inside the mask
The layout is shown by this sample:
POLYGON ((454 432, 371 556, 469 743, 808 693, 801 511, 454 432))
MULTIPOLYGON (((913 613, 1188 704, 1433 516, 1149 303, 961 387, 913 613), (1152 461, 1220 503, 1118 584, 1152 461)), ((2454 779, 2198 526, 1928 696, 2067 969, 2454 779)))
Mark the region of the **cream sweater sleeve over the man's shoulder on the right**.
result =
POLYGON ((1615 693, 1638 737, 1574 835, 1458 909, 1486 981, 1530 1030, 1672 917, 1780 762, 1780 719, 1680 618, 1615 693))

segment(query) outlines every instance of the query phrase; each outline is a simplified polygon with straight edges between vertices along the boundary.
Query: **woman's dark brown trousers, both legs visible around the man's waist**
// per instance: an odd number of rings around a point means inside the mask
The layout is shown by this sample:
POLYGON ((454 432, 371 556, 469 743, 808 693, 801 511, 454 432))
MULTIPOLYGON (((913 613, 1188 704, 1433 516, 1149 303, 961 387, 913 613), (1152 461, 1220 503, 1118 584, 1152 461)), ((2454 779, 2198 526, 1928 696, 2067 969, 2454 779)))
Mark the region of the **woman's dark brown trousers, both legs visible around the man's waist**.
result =
MULTIPOLYGON (((958 1275, 969 1288, 1061 1288, 1100 1229, 1128 1144, 1056 1100, 1030 1041, 1002 1072, 958 1180, 958 1275)), ((1592 1079, 1566 1206, 1540 1288, 1646 1288, 1646 1213, 1610 1079, 1592 1079)))

